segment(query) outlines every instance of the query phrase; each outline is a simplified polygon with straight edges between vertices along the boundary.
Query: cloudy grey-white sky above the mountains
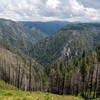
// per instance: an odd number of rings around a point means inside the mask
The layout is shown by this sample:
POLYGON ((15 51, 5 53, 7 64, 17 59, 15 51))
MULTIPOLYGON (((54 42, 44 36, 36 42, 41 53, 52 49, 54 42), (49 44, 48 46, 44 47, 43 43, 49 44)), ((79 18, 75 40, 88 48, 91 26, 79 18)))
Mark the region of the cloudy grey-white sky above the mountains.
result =
POLYGON ((100 22, 100 0, 0 0, 0 18, 100 22))

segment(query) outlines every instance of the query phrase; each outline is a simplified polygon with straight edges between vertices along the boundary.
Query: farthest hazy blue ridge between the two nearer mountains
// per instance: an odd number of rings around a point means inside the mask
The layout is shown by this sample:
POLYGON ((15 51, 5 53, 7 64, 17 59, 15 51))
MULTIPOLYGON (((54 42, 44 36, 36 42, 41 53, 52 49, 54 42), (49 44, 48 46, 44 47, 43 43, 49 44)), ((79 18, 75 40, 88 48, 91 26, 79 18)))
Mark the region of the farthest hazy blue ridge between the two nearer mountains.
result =
POLYGON ((39 29, 40 31, 47 33, 47 34, 53 34, 54 32, 57 32, 62 27, 66 26, 67 24, 71 24, 71 22, 64 22, 64 21, 49 21, 49 22, 19 22, 23 26, 29 28, 29 29, 39 29))

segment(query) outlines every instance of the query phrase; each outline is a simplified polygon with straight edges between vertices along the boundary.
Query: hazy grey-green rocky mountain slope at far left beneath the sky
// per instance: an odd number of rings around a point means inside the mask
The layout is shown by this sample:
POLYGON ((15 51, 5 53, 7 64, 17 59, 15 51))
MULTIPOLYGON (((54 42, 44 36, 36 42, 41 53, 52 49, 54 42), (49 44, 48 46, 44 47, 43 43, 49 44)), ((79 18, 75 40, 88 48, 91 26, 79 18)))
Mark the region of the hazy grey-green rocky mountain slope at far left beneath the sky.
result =
POLYGON ((45 37, 43 32, 29 30, 11 20, 0 19, 0 40, 6 40, 17 49, 24 51, 45 37))

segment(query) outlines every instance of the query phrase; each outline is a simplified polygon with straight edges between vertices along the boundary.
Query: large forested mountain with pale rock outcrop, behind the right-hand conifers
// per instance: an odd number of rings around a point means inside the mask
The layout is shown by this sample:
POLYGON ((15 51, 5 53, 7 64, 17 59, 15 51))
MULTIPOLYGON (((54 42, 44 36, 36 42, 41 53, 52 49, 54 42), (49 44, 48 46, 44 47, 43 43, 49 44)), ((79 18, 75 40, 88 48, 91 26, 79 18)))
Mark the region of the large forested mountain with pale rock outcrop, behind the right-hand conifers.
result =
POLYGON ((31 54, 45 65, 57 59, 79 56, 84 49, 89 52, 99 43, 100 24, 73 24, 38 42, 31 54))

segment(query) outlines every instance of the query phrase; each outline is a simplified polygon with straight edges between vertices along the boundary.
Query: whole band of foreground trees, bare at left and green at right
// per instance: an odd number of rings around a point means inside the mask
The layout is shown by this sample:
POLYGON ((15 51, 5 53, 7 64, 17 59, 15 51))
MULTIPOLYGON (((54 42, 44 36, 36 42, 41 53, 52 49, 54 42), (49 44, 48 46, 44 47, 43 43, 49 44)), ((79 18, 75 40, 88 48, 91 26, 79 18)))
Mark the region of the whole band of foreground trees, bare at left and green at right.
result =
POLYGON ((19 89, 86 99, 100 96, 100 46, 89 56, 83 51, 79 58, 55 61, 45 68, 34 65, 30 58, 21 60, 16 56, 12 61, 10 56, 0 54, 0 78, 19 89))

